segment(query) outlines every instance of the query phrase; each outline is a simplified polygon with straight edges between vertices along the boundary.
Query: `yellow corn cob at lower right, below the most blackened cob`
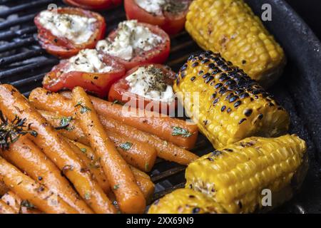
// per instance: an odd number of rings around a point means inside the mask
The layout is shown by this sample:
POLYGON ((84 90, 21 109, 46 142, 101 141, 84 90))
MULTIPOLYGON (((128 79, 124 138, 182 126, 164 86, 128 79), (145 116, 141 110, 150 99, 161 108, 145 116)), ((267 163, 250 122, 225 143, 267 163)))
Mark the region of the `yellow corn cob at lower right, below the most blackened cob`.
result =
POLYGON ((262 190, 272 206, 289 199, 305 177, 305 141, 296 135, 246 138, 188 165, 186 187, 212 197, 229 213, 255 212, 262 190))

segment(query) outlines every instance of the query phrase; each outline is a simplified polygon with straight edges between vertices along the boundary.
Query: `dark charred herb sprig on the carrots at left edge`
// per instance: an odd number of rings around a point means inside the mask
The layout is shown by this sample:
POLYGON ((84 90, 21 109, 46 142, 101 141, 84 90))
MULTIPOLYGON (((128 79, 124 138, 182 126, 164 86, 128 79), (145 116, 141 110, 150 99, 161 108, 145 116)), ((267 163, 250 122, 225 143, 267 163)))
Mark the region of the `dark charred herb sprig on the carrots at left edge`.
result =
POLYGON ((0 120, 0 148, 3 150, 8 150, 9 145, 19 140, 21 135, 30 134, 34 137, 38 135, 35 130, 30 130, 31 124, 26 125, 26 118, 21 119, 16 116, 10 121, 0 110, 0 120))

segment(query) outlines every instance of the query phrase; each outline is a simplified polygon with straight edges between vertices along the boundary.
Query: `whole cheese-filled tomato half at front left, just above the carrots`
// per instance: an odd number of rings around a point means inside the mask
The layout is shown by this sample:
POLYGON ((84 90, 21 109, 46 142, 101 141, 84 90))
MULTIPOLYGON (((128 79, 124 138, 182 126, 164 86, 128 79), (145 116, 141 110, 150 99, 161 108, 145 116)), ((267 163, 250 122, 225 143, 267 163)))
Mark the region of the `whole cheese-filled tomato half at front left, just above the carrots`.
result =
POLYGON ((63 60, 44 77, 47 90, 57 92, 63 88, 81 86, 101 98, 125 74, 125 68, 113 58, 101 56, 95 49, 85 49, 68 60, 63 60))

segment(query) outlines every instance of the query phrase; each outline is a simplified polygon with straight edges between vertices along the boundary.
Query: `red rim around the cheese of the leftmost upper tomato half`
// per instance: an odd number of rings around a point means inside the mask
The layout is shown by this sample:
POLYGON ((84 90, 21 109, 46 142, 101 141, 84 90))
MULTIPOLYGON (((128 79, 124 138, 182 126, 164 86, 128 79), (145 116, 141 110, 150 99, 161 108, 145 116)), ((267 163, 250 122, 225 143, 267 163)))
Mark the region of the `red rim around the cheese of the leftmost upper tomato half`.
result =
POLYGON ((93 31, 93 36, 91 36, 86 43, 76 44, 66 37, 54 36, 50 30, 41 25, 39 21, 40 14, 38 14, 34 19, 34 23, 38 28, 39 42, 41 43, 41 46, 52 55, 59 58, 69 58, 71 56, 75 56, 82 49, 95 48, 96 43, 105 36, 106 22, 101 15, 77 8, 58 8, 57 12, 58 14, 75 14, 79 16, 86 16, 88 18, 95 18, 97 21, 91 28, 93 31))

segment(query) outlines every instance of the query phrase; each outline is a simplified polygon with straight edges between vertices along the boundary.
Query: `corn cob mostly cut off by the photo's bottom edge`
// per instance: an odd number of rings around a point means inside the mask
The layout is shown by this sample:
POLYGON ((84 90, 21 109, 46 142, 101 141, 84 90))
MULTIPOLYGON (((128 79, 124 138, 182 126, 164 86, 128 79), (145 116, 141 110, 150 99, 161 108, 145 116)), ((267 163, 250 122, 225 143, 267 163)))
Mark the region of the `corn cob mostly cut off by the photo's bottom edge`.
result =
POLYGON ((190 189, 179 189, 156 200, 148 214, 205 214, 224 213, 225 210, 213 199, 190 189))

